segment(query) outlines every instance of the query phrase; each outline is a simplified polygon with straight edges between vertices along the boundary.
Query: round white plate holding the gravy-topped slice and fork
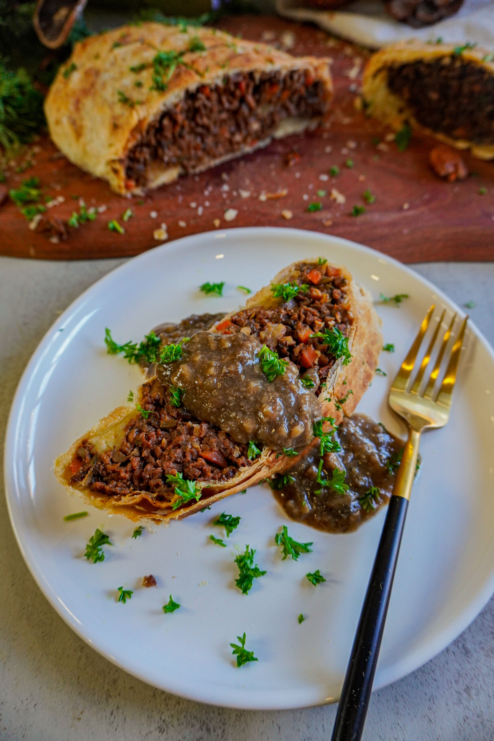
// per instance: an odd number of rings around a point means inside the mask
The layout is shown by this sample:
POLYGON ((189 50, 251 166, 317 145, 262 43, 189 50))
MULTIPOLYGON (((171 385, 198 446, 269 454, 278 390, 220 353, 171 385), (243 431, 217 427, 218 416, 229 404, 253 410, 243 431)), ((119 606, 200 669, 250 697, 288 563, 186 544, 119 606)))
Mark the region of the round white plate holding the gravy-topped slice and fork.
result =
MULTIPOLYGON (((141 339, 165 320, 230 310, 238 284, 257 289, 284 265, 324 255, 347 265, 375 299, 409 293, 400 308, 378 306, 387 377, 376 376, 359 411, 404 433, 387 410, 387 388, 427 308, 455 307, 433 285, 393 259, 353 242, 289 229, 232 229, 158 247, 86 291, 42 340, 22 376, 7 431, 5 476, 10 517, 31 573, 61 617, 96 651, 150 684, 184 697, 236 708, 298 708, 338 698, 385 510, 358 531, 330 535, 291 522, 267 486, 219 502, 211 511, 131 539, 123 517, 62 517, 84 508, 53 476, 53 459, 101 416, 127 399, 140 371, 107 355, 104 328, 119 342, 141 339), (226 282, 224 298, 198 285, 226 282), (241 516, 227 548, 211 521, 241 516), (313 553, 281 561, 274 536, 288 525, 313 553), (104 562, 84 559, 100 527, 113 548, 104 562), (246 597, 233 559, 249 543, 267 575, 246 597), (327 582, 305 579, 320 569, 327 582), (157 588, 144 589, 144 574, 157 588), (126 604, 116 588, 133 590, 126 604), (180 602, 173 614, 162 605, 180 602), (299 625, 297 616, 305 621, 299 625), (230 642, 247 633, 258 662, 236 668, 230 642)), ((493 351, 473 325, 461 360, 449 424, 426 433, 375 675, 375 688, 432 658, 484 606, 494 590, 493 351)))

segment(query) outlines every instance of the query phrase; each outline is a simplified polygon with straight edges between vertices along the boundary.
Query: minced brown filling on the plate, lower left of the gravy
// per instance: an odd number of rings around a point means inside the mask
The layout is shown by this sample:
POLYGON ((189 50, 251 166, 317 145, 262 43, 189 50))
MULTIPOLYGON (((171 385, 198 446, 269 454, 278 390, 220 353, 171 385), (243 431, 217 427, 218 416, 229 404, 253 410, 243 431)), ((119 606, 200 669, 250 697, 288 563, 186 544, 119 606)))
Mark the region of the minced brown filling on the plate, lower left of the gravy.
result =
POLYGON ((70 465, 71 485, 87 479, 85 483, 99 494, 126 496, 147 491, 164 502, 176 496, 176 485, 167 483, 167 474, 181 473, 184 479, 213 485, 252 465, 247 445, 200 422, 184 407, 173 406, 170 391, 158 380, 144 385, 143 393, 141 408, 149 412, 147 419, 141 413, 131 419, 115 450, 97 453, 90 442, 82 442, 70 465))

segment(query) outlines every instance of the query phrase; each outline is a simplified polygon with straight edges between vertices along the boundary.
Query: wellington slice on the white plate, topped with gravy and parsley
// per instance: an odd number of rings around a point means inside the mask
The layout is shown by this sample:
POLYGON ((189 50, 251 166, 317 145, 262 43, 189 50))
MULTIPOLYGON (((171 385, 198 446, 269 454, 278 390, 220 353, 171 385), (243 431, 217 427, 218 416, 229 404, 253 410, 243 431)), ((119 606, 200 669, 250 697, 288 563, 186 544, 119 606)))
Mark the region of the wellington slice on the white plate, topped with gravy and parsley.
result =
MULTIPOLYGON (((165 337, 198 319, 167 325, 165 337)), ((315 422, 333 417, 327 431, 355 409, 377 366, 379 325, 345 268, 290 265, 245 308, 164 345, 137 408, 81 436, 56 476, 89 504, 159 522, 283 473, 314 442, 315 422)))

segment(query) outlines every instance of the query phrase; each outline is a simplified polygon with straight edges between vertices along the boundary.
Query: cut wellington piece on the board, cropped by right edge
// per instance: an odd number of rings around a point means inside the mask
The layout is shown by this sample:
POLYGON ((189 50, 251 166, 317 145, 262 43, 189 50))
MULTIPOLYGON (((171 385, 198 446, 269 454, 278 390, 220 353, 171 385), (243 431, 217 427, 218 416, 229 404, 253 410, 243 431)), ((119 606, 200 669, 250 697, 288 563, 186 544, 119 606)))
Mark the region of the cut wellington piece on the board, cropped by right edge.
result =
POLYGON ((494 159, 494 64, 485 50, 400 43, 367 63, 367 113, 400 130, 405 123, 479 159, 494 159))

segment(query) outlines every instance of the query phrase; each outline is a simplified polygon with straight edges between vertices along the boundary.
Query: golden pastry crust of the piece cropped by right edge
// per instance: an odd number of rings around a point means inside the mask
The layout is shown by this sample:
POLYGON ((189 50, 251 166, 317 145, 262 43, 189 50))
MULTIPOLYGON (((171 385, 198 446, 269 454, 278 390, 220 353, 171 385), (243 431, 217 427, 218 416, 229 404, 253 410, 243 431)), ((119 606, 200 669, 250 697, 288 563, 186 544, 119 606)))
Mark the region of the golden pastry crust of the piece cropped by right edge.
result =
MULTIPOLYGON (((455 44, 423 44, 418 42, 400 41, 376 52, 367 62, 362 82, 362 96, 367 113, 389 124, 395 131, 399 131, 404 123, 410 122, 414 128, 429 136, 434 136, 440 142, 450 144, 457 149, 470 149, 478 159, 494 159, 494 144, 475 144, 466 139, 453 139, 443 133, 433 131, 417 122, 404 100, 387 87, 387 67, 399 64, 410 64, 423 61, 430 62, 455 53, 455 44)), ((461 59, 483 67, 490 74, 494 74, 494 62, 487 61, 491 55, 485 49, 475 47, 464 49, 461 59)))

